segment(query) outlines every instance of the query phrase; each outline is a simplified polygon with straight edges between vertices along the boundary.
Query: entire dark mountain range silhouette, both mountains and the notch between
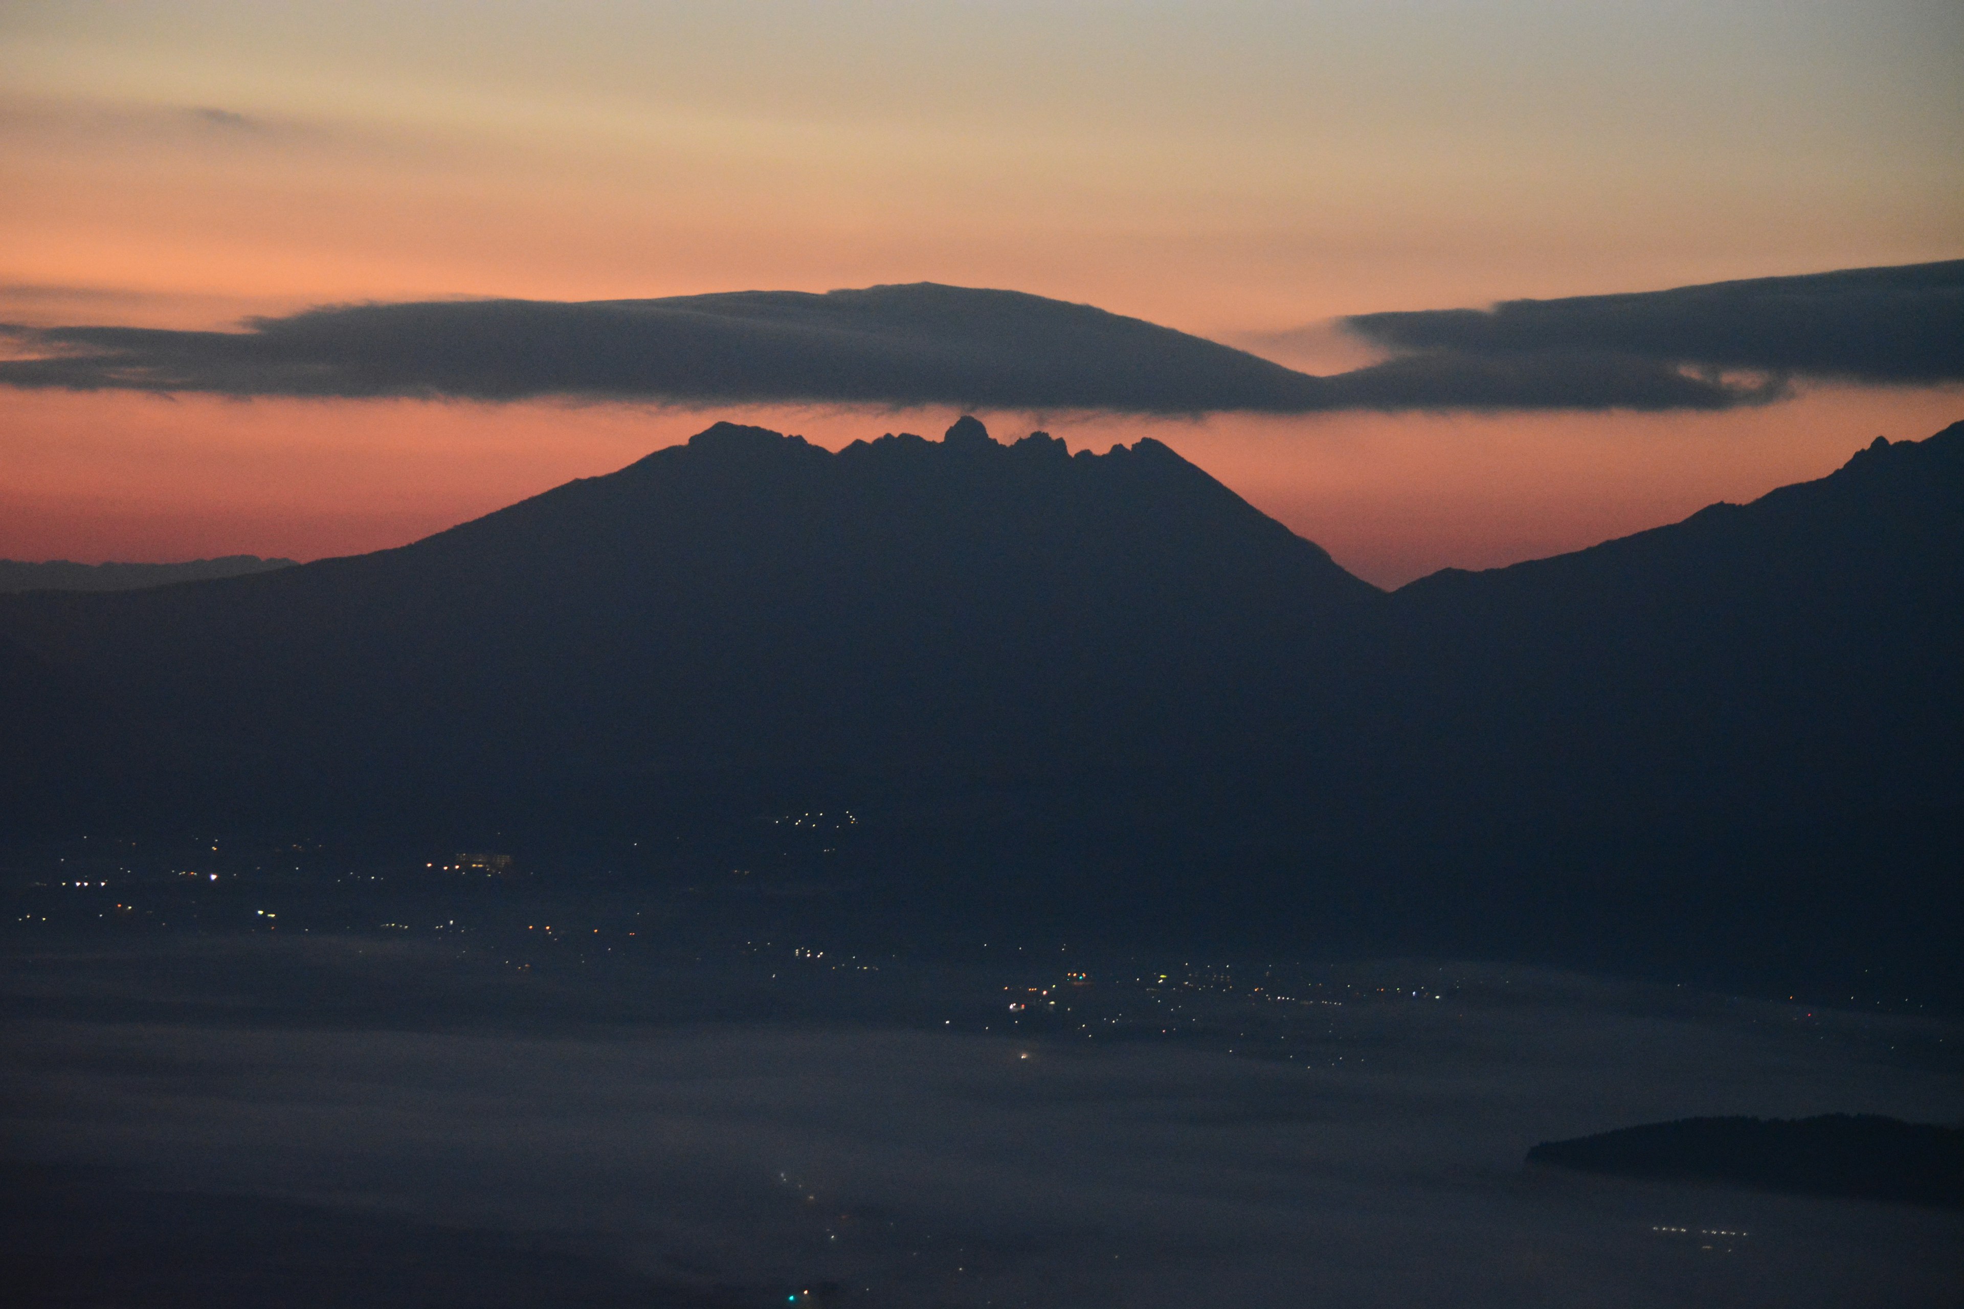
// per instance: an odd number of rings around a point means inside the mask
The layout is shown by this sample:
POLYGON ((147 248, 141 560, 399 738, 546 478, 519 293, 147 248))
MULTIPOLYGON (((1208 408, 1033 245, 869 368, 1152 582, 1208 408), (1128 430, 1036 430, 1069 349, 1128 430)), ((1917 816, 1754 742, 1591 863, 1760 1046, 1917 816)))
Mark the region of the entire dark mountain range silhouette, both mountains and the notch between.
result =
POLYGON ((1964 995, 1960 654, 1964 424, 1391 595, 1151 440, 717 424, 401 550, 0 597, 0 777, 16 830, 905 795, 896 867, 1100 918, 1964 995))

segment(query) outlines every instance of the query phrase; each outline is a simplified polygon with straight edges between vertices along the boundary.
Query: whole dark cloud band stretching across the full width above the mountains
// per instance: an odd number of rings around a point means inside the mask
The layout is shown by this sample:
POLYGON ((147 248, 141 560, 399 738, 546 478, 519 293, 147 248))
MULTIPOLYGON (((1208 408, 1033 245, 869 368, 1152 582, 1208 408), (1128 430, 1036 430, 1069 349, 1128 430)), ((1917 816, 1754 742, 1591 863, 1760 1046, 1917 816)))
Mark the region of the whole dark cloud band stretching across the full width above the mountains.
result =
POLYGON ((1398 353, 1334 377, 1086 304, 919 283, 577 304, 354 304, 257 318, 242 332, 12 328, 18 349, 0 361, 0 385, 1137 414, 1709 410, 1773 398, 1789 373, 1964 377, 1960 281, 1964 263, 1946 263, 1489 312, 1373 314, 1347 322, 1398 353), (1813 318, 1795 326, 1793 312, 1740 308, 1777 302, 1773 292, 1742 300, 1736 290, 1773 283, 1819 283, 1805 300, 1813 318), (1880 304, 1893 304, 1893 316, 1880 304), (1764 375, 1720 377, 1742 367, 1764 375))

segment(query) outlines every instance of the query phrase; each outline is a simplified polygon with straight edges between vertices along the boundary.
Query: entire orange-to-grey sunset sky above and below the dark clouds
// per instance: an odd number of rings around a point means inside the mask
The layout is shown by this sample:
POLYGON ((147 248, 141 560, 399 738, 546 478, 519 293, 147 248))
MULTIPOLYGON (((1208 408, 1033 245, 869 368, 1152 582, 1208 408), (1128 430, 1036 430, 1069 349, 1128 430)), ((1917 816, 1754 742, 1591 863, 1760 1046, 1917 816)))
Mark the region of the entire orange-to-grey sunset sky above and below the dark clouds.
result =
MULTIPOLYGON (((1371 357, 1339 314, 1964 255, 1960 69, 1954 0, 14 2, 0 322, 941 281, 1332 371, 1371 357)), ((393 546, 723 416, 953 412, 0 393, 0 555, 393 546)), ((1389 585, 1819 477, 1964 393, 986 418, 1165 440, 1389 585)))

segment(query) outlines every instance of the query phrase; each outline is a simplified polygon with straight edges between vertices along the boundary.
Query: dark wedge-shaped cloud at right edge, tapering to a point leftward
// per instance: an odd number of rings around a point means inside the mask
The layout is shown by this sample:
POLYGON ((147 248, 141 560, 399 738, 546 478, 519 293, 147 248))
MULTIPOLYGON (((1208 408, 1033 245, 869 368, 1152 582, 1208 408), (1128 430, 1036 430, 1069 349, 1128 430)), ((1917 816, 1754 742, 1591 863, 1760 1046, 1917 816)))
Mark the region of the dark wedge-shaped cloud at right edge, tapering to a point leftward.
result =
POLYGON ((1508 300, 1489 310, 1359 314, 1345 326, 1416 359, 1479 361, 1508 375, 1540 371, 1552 379, 1563 361, 1595 359, 1597 381, 1585 383, 1585 393, 1605 383, 1614 389, 1614 371, 1634 381, 1644 369, 1658 381, 1664 371, 1691 369, 1687 383, 1730 369, 1773 379, 1954 383, 1964 381, 1964 259, 1508 300))

